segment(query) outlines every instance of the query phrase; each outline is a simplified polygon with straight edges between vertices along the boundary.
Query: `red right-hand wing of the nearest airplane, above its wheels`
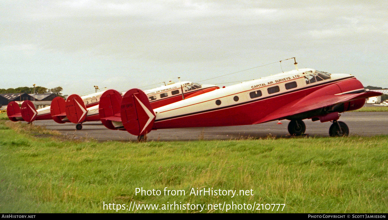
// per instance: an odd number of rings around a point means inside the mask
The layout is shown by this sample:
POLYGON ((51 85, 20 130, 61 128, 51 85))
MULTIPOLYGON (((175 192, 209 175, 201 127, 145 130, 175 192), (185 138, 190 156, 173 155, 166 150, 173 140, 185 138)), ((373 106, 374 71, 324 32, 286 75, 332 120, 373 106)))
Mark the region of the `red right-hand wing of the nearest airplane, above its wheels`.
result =
POLYGON ((358 94, 322 95, 319 97, 306 96, 280 107, 279 109, 275 110, 271 114, 268 114, 267 116, 265 116, 259 121, 256 121, 253 124, 260 124, 263 122, 273 121, 285 118, 287 116, 292 116, 294 114, 319 109, 322 107, 333 106, 344 102, 350 102, 357 99, 365 99, 379 95, 382 94, 380 92, 363 92, 358 94))

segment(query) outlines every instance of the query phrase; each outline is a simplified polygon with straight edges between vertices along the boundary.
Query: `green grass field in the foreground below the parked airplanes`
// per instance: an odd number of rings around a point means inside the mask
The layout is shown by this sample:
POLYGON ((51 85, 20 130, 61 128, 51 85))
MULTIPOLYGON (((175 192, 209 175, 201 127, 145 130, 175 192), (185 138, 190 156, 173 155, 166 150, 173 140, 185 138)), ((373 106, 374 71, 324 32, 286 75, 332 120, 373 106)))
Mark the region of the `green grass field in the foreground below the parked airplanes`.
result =
POLYGON ((136 207, 120 213, 225 213, 232 203, 240 204, 234 213, 386 213, 388 136, 99 143, 0 120, 0 212, 116 212, 109 203, 136 207), (161 195, 136 194, 141 187, 161 195), (165 187, 185 195, 165 196, 165 187), (239 196, 199 196, 193 188, 239 196), (174 202, 204 208, 166 206, 174 202))

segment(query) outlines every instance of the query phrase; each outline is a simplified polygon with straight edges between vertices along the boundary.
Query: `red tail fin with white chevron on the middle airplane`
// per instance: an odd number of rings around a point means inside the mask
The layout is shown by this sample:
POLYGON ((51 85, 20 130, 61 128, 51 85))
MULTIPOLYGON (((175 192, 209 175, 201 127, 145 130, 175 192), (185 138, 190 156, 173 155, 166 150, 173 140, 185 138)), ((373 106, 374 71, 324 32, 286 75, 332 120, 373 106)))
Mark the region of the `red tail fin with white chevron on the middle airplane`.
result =
POLYGON ((79 95, 73 94, 66 99, 66 116, 72 123, 78 124, 85 121, 87 109, 79 95))

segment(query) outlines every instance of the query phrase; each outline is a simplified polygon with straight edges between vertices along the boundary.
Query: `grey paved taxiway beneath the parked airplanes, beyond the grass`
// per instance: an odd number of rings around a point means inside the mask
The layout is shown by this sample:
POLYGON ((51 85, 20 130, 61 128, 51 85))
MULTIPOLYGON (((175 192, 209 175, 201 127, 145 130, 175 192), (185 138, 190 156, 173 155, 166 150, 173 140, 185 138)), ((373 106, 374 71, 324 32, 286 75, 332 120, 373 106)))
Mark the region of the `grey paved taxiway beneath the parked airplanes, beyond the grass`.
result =
MULTIPOLYGON (((388 112, 346 112, 342 113, 340 121, 349 127, 349 135, 372 136, 388 135, 388 112)), ((306 134, 310 137, 329 137, 330 122, 320 123, 304 120, 306 134)), ((175 128, 151 131, 147 134, 148 140, 174 141, 174 140, 229 140, 240 138, 259 138, 268 135, 276 137, 290 137, 287 125, 288 120, 283 120, 282 125, 277 121, 260 125, 223 126, 223 127, 198 127, 175 128)), ((52 120, 34 121, 34 125, 45 126, 48 129, 58 130, 64 135, 74 137, 93 138, 99 141, 120 140, 137 141, 137 137, 126 131, 109 130, 100 122, 85 122, 82 130, 76 130, 75 124, 57 124, 52 120)))

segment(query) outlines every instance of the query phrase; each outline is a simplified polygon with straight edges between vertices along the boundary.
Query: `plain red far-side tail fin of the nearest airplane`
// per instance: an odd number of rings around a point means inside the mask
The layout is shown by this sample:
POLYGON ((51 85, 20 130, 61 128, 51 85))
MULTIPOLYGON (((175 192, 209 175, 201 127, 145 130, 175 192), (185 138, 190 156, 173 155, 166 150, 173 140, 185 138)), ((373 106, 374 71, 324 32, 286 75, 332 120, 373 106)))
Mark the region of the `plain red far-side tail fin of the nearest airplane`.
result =
POLYGON ((121 121, 120 107, 123 97, 116 90, 106 90, 100 97, 99 114, 103 125, 111 130, 117 130, 112 121, 121 121))

